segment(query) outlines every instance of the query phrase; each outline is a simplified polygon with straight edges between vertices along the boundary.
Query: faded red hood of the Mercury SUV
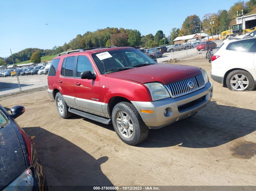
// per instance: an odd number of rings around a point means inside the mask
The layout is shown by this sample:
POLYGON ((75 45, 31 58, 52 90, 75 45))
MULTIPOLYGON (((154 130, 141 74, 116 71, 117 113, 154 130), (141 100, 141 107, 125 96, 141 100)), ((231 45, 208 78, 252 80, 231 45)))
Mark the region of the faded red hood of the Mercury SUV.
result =
POLYGON ((107 74, 107 76, 138 81, 140 83, 158 81, 162 84, 168 84, 185 78, 190 78, 198 74, 201 74, 201 70, 198 67, 158 63, 113 72, 107 74))

